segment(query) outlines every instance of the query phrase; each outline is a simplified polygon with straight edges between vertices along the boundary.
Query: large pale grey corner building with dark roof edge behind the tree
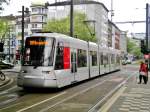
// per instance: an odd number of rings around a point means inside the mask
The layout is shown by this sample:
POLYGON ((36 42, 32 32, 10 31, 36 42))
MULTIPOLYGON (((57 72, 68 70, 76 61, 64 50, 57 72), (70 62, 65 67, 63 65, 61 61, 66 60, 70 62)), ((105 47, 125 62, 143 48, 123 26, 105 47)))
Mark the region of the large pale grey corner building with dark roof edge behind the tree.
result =
MULTIPOLYGON (((48 19, 62 19, 70 14, 70 1, 50 4, 48 19)), ((104 4, 91 0, 74 1, 74 11, 87 16, 87 24, 95 29, 97 42, 101 46, 107 46, 108 38, 108 9, 104 4)))

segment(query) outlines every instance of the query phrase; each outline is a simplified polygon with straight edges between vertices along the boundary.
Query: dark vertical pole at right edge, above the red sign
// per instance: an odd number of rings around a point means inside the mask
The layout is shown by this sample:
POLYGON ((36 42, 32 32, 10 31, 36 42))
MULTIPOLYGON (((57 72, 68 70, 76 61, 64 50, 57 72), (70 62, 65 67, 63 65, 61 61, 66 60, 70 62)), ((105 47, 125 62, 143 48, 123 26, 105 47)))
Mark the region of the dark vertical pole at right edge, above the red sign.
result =
POLYGON ((146 47, 150 50, 150 4, 146 4, 146 47))

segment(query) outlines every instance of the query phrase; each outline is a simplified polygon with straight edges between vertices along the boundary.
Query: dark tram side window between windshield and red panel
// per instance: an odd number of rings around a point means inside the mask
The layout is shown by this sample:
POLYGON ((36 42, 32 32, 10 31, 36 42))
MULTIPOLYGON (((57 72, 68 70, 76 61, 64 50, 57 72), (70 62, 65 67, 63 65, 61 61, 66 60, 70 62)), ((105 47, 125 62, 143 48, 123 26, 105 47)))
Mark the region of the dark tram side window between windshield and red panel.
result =
POLYGON ((64 63, 63 63, 63 46, 57 46, 56 51, 56 61, 55 61, 55 70, 64 69, 64 63))

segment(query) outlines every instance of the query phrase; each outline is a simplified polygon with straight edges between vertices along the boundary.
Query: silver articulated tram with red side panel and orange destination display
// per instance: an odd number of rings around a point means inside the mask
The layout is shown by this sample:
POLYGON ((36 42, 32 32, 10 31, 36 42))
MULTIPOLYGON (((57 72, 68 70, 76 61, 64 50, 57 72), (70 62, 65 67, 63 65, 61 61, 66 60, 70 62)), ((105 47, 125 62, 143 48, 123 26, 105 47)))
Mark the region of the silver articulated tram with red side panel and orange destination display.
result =
POLYGON ((35 33, 26 38, 17 85, 61 88, 120 69, 119 50, 59 33, 35 33))

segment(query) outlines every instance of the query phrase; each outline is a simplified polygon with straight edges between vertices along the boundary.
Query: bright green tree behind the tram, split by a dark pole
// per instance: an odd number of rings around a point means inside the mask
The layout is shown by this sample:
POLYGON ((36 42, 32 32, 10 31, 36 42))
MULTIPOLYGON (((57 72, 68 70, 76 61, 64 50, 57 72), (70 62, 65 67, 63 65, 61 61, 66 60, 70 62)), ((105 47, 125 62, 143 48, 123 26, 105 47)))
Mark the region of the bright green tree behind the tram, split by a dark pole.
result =
MULTIPOLYGON (((92 37, 84 21, 86 20, 86 15, 83 13, 74 13, 74 36, 85 41, 96 41, 96 37, 92 37)), ((63 33, 69 35, 70 31, 70 15, 66 18, 60 20, 49 20, 44 26, 44 31, 51 31, 57 33, 63 33)), ((89 25, 91 31, 93 27, 89 25)))

